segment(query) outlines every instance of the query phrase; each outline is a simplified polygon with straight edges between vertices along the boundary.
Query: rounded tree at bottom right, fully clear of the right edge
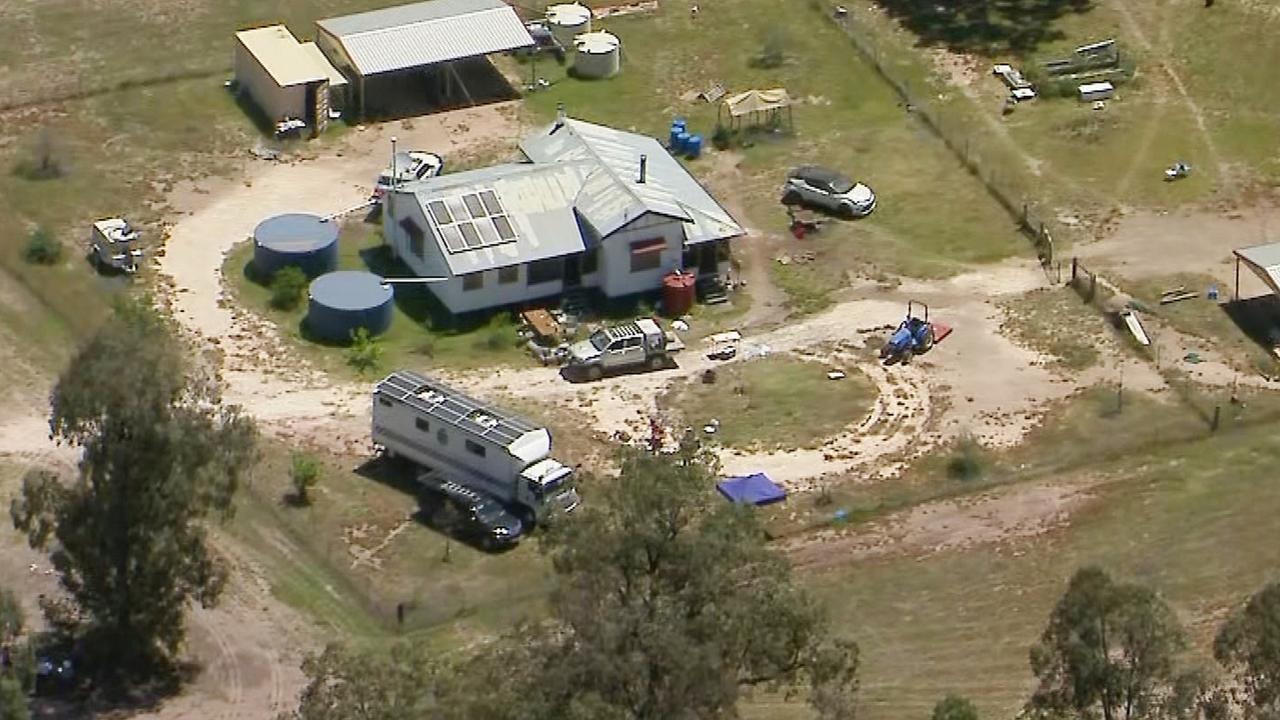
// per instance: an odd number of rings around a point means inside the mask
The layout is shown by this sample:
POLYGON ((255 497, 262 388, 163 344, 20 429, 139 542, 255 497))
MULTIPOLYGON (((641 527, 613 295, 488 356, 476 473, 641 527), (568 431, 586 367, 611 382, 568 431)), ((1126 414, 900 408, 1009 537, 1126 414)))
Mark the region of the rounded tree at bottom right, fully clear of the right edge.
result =
POLYGON ((1153 716, 1183 694, 1175 661, 1184 644, 1178 619, 1160 596, 1083 568, 1032 648, 1039 685, 1029 708, 1080 719, 1153 716))

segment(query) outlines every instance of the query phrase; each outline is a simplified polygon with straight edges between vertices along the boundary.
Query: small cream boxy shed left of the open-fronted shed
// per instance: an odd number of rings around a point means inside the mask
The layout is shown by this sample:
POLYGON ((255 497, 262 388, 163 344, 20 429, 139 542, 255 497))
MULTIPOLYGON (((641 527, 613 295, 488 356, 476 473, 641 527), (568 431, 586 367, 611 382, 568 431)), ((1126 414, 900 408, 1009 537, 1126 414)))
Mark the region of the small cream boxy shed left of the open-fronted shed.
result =
POLYGON ((347 79, 312 42, 284 26, 236 33, 236 82, 271 123, 297 119, 315 135, 342 105, 347 79))

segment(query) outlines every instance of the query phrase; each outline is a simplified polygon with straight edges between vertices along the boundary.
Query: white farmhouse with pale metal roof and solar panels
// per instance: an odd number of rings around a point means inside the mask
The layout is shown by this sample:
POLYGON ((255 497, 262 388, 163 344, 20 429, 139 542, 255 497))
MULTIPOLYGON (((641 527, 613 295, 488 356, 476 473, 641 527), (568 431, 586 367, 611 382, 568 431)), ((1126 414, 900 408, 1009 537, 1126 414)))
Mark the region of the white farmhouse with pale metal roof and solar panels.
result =
POLYGON ((406 183, 387 243, 451 313, 594 288, 657 290, 675 270, 722 277, 742 227, 658 141, 561 118, 524 163, 406 183))

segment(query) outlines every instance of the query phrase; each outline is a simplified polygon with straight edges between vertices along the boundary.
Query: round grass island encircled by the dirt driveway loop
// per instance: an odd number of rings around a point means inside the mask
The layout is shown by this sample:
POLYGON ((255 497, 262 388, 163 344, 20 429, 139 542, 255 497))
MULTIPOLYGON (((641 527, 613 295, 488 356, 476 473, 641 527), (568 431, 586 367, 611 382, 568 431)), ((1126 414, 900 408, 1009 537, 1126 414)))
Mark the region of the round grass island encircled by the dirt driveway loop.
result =
POLYGON ((861 420, 876 386, 861 373, 827 379, 828 366, 794 357, 765 357, 722 365, 716 382, 687 380, 663 397, 686 424, 719 428, 713 441, 727 447, 814 447, 861 420))

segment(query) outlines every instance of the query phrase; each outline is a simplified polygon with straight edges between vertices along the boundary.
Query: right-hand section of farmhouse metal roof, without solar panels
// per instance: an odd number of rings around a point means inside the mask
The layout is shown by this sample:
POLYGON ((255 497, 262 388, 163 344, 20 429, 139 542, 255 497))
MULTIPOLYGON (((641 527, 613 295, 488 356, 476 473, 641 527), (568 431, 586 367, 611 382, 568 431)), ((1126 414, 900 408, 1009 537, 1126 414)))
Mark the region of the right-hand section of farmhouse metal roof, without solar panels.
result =
POLYGON ((534 163, 590 161, 576 208, 608 236, 645 213, 685 222, 689 245, 745 234, 714 197, 657 140, 594 123, 564 119, 525 138, 520 150, 534 163), (646 158, 645 182, 640 156, 646 158))

